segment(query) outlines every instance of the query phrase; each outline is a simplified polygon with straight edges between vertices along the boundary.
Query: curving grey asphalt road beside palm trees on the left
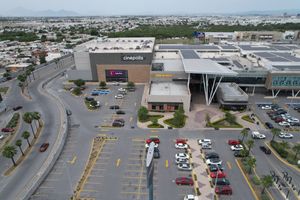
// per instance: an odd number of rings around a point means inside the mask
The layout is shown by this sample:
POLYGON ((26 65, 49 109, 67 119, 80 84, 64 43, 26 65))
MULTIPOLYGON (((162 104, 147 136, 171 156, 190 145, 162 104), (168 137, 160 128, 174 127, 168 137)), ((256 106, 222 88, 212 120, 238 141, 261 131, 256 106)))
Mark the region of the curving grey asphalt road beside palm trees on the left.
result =
MULTIPOLYGON (((70 63, 66 62, 66 64, 70 63)), ((44 96, 43 94, 41 94, 41 91, 39 91, 38 87, 44 77, 50 77, 55 73, 63 70, 64 69, 60 68, 48 70, 47 67, 45 67, 45 71, 41 69, 39 71, 41 79, 31 83, 29 87, 30 95, 32 97, 31 101, 26 100, 22 95, 20 95, 20 88, 17 86, 16 80, 10 81, 10 83, 12 84, 11 91, 6 101, 8 102, 8 106, 10 107, 15 105, 22 105, 22 112, 38 111, 41 113, 41 117, 45 123, 43 133, 40 136, 38 142, 34 145, 31 153, 27 156, 27 159, 23 161, 23 163, 10 176, 0 177, 0 199, 16 199, 18 196, 18 192, 21 191, 22 188, 34 176, 34 174, 38 172, 39 168, 47 158, 48 153, 50 152, 49 150, 52 148, 51 143, 53 144, 53 142, 55 141, 57 131, 60 127, 60 118, 58 116, 59 112, 57 105, 55 104, 53 99, 50 99, 48 96, 44 96), (43 74, 43 72, 45 74, 43 74), (38 148, 45 141, 50 143, 49 149, 44 153, 40 153, 38 151, 38 148)), ((22 134, 22 131, 28 129, 28 125, 22 126, 15 139, 21 138, 20 135, 22 134)), ((26 146, 25 141, 23 141, 23 147, 24 146, 26 146)), ((5 168, 3 168, 3 165, 7 166, 8 162, 11 161, 8 159, 4 160, 1 156, 2 170, 4 170, 5 168)))

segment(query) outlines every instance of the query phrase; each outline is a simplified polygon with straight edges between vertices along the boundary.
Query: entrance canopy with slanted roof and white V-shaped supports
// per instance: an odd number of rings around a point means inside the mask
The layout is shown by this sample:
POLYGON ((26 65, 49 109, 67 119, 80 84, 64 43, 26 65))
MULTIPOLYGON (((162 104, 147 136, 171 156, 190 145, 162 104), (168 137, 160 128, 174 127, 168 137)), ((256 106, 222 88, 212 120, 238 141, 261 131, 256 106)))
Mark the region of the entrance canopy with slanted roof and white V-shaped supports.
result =
POLYGON ((237 75, 236 72, 218 64, 216 61, 201 59, 195 50, 181 50, 180 56, 184 71, 189 74, 188 84, 190 83, 190 74, 202 74, 206 105, 211 104, 224 76, 237 75), (213 79, 212 86, 209 85, 209 79, 213 79))

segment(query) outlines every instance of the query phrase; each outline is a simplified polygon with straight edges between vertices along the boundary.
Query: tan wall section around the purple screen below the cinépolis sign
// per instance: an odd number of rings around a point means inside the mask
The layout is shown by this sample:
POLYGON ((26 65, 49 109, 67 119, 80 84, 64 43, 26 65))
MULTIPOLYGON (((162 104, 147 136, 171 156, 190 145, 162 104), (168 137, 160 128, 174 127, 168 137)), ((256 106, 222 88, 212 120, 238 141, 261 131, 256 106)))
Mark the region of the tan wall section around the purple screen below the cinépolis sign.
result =
POLYGON ((105 70, 127 70, 128 81, 134 83, 148 83, 150 79, 149 65, 97 65, 97 75, 99 81, 106 81, 105 70))

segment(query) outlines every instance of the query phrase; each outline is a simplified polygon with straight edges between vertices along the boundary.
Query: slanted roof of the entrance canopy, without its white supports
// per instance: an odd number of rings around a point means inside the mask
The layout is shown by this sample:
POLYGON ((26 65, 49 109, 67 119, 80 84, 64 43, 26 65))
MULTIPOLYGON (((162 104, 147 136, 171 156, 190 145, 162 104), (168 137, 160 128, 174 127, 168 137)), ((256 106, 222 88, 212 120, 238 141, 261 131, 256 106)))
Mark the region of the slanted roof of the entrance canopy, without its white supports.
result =
POLYGON ((210 75, 223 75, 223 76, 235 76, 236 72, 228 69, 225 66, 218 64, 211 59, 201 59, 195 57, 195 51, 193 50, 181 50, 182 62, 185 73, 193 74, 210 74, 210 75), (189 55, 189 53, 191 55, 189 55))

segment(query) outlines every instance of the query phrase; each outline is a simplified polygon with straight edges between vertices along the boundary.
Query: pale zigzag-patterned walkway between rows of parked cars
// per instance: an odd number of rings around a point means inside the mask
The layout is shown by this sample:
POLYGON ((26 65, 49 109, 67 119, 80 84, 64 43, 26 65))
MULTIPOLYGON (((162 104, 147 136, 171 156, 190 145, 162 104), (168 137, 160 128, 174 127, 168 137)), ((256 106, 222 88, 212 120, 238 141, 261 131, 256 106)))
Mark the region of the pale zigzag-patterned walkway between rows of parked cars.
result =
POLYGON ((191 162, 193 163, 193 177, 197 176, 197 181, 195 183, 195 190, 198 187, 201 195, 199 199, 201 200, 211 200, 214 199, 214 189, 211 187, 209 182, 209 177, 207 174, 207 166, 203 162, 202 155, 200 153, 200 146, 197 140, 189 140, 188 144, 190 146, 190 153, 192 155, 191 162))

